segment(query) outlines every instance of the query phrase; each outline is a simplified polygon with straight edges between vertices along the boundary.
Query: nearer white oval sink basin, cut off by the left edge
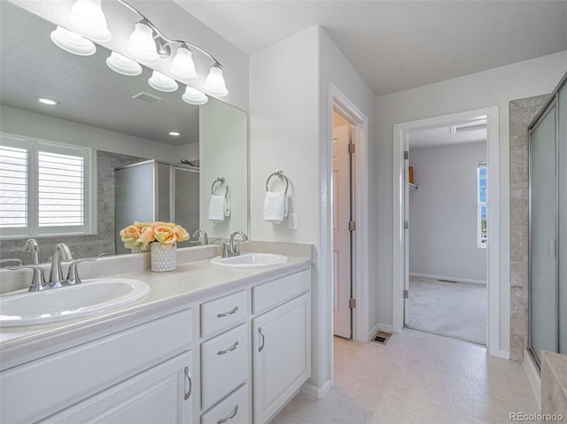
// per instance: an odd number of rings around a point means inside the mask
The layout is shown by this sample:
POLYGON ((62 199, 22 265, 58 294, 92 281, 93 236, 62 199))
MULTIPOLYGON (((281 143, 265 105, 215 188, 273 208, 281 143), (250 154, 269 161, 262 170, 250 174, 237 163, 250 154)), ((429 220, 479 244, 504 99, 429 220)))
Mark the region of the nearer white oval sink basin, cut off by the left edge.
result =
POLYGON ((96 278, 45 291, 19 290, 0 297, 0 326, 17 327, 84 317, 128 305, 150 292, 144 281, 96 278))

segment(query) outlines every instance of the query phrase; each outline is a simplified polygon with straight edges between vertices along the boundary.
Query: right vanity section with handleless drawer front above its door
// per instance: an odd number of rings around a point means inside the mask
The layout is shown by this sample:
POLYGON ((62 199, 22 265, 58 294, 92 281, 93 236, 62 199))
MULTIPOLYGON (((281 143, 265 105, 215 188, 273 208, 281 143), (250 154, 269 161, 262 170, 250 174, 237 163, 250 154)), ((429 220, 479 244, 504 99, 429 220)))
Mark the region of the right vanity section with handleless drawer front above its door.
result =
POLYGON ((256 311, 273 307, 252 319, 254 424, 271 420, 311 376, 309 273, 282 280, 252 288, 256 311))

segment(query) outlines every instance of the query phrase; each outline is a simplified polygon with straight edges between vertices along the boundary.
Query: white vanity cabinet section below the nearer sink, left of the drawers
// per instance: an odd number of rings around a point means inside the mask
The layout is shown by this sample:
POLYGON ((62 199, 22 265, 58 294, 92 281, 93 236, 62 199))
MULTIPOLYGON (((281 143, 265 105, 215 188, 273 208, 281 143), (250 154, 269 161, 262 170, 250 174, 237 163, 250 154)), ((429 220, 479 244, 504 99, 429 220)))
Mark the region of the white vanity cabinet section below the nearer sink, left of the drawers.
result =
POLYGON ((191 322, 177 312, 3 371, 0 422, 190 423, 191 322))

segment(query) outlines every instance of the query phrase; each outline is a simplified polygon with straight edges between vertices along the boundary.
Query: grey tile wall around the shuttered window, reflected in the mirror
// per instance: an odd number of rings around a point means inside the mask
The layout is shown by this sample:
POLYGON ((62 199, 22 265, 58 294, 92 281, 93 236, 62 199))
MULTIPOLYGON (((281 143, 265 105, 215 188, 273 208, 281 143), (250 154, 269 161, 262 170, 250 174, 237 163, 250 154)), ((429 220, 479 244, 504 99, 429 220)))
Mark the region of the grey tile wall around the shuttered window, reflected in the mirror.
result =
MULTIPOLYGON (((102 252, 114 253, 114 168, 148 160, 97 150, 97 234, 37 238, 40 262, 47 262, 57 243, 66 243, 74 258, 89 258, 102 252)), ((19 258, 31 263, 29 253, 21 251, 24 238, 1 240, 0 258, 19 258)))

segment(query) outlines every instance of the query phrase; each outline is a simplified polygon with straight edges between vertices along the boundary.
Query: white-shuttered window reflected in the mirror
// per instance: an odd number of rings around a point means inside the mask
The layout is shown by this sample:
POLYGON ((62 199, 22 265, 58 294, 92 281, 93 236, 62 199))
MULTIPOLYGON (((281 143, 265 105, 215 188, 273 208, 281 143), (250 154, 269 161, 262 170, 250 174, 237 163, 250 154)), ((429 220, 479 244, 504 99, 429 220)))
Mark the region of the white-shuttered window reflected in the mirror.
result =
POLYGON ((90 233, 90 163, 89 148, 2 135, 2 237, 90 233))

